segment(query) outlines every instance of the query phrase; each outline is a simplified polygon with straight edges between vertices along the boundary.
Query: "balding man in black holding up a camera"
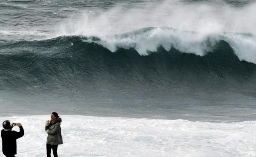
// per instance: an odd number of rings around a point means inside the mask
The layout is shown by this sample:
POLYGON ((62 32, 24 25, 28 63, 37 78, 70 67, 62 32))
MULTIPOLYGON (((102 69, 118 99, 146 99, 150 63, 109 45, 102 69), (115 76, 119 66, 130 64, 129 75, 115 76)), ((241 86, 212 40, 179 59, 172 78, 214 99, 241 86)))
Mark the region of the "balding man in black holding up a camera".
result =
POLYGON ((2 152, 6 157, 15 157, 17 154, 17 144, 16 139, 23 137, 24 130, 21 123, 12 123, 5 120, 2 124, 3 130, 1 131, 2 137, 2 152), (12 131, 13 126, 17 125, 20 128, 20 132, 12 131))

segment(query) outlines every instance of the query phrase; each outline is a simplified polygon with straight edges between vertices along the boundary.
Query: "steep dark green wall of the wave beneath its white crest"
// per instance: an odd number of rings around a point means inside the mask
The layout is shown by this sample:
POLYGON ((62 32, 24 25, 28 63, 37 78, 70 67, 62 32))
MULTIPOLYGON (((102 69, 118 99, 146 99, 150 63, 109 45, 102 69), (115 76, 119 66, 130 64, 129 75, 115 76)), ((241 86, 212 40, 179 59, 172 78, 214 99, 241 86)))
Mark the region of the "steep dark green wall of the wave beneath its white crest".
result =
MULTIPOLYGON (((129 42, 119 41, 129 45, 129 42)), ((105 41, 70 36, 2 44, 1 86, 45 86, 51 82, 81 86, 87 82, 114 80, 155 85, 200 82, 209 86, 211 80, 246 85, 254 83, 256 76, 256 65, 239 60, 224 40, 211 45, 212 51, 205 51, 203 56, 182 53, 175 46, 167 51, 161 44, 152 52, 146 51, 147 55, 136 51, 136 44, 130 47, 115 44, 117 47, 112 53, 98 43, 105 41)))

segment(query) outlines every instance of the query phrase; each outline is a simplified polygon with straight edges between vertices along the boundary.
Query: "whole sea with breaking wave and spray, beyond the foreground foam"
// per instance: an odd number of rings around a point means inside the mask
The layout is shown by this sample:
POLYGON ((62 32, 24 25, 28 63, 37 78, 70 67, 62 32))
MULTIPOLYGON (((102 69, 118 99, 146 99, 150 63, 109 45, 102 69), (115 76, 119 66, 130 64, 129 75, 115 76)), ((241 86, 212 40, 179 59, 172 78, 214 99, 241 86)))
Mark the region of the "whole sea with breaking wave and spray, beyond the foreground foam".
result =
POLYGON ((1 115, 255 120, 255 8, 251 0, 2 0, 1 115))

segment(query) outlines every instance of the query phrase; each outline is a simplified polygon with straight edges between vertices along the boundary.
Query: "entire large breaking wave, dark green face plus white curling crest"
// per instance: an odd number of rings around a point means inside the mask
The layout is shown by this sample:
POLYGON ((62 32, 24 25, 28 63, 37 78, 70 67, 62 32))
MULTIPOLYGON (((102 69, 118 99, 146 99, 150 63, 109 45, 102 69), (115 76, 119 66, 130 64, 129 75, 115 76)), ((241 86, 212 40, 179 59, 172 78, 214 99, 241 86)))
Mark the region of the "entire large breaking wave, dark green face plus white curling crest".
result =
POLYGON ((2 42, 0 84, 248 85, 256 77, 254 40, 251 34, 200 36, 164 27, 105 37, 2 42))

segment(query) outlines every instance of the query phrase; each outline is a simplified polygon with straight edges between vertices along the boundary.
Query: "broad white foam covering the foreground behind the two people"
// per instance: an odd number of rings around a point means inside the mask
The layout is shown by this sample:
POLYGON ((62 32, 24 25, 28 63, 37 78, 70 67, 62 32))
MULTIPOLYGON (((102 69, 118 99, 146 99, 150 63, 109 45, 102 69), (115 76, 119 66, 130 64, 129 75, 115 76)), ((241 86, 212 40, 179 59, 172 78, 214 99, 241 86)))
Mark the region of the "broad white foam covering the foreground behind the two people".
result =
MULTIPOLYGON (((46 154, 49 116, 0 117, 21 122, 17 157, 46 154)), ((254 157, 256 121, 203 123, 187 120, 62 115, 62 157, 254 157)), ((17 130, 17 128, 14 128, 17 130)), ((2 143, 0 143, 0 146, 2 143)))

